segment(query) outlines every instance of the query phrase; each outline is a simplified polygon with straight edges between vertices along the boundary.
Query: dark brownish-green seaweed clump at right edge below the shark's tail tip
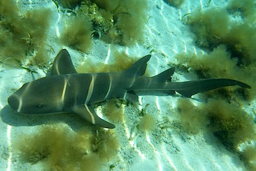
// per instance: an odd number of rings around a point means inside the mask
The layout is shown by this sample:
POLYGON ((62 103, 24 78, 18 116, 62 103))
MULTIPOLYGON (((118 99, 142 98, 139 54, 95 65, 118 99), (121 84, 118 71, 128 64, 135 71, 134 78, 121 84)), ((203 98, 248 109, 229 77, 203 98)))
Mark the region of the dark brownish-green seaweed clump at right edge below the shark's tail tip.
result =
POLYGON ((235 104, 221 99, 209 99, 204 107, 210 119, 210 129, 227 148, 237 150, 238 146, 256 136, 252 115, 235 104))

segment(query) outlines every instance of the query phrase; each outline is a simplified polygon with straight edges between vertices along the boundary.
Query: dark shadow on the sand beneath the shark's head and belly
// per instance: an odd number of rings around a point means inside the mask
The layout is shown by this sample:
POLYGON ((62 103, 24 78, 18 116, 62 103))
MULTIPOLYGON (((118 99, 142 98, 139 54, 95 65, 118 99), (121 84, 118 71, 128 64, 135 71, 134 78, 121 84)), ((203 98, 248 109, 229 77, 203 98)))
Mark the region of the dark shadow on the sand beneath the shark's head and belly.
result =
POLYGON ((25 115, 18 114, 16 111, 11 109, 9 105, 6 105, 1 111, 0 115, 2 121, 13 127, 20 126, 38 126, 45 124, 55 124, 55 123, 66 123, 74 131, 79 130, 79 128, 84 126, 97 127, 86 120, 82 119, 74 113, 59 113, 59 114, 49 114, 49 115, 25 115))

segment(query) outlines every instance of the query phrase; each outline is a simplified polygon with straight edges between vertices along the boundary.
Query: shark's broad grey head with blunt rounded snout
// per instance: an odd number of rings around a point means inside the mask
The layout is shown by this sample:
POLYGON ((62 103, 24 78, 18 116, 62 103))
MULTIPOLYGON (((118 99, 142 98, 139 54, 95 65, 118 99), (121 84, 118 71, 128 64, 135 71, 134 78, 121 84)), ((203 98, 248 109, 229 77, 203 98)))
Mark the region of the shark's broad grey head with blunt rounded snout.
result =
MULTIPOLYGON (((54 79, 54 78, 53 78, 54 79)), ((42 78, 24 84, 8 98, 12 109, 24 114, 49 114, 61 112, 61 93, 63 84, 58 80, 42 78), (47 85, 47 86, 46 86, 47 85), (62 86, 62 87, 61 87, 62 86)))

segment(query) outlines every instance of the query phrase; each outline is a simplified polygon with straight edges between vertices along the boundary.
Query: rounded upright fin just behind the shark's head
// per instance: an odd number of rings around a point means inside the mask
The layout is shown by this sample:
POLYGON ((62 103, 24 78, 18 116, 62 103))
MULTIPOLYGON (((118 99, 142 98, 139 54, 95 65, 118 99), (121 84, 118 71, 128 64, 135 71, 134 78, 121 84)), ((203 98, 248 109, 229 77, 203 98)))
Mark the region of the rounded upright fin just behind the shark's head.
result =
POLYGON ((66 49, 61 50, 56 56, 51 70, 51 76, 63 74, 77 74, 70 55, 66 49))

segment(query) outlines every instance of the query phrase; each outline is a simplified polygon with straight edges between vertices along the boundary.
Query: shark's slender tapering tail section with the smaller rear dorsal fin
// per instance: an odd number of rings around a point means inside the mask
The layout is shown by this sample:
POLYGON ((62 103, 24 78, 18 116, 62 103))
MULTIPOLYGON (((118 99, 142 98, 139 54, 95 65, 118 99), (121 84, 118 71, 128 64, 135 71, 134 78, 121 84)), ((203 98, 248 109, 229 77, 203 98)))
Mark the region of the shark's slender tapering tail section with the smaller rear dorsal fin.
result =
POLYGON ((172 75, 174 74, 175 68, 169 68, 159 75, 148 78, 144 88, 141 88, 140 80, 136 86, 131 87, 131 90, 135 90, 137 95, 159 95, 163 94, 175 94, 175 92, 180 93, 183 96, 191 97, 191 95, 197 94, 199 92, 209 91, 220 87, 227 86, 240 86, 242 88, 251 88, 248 84, 242 83, 237 80, 232 79, 202 79, 197 81, 186 81, 186 82, 172 82, 172 75))

